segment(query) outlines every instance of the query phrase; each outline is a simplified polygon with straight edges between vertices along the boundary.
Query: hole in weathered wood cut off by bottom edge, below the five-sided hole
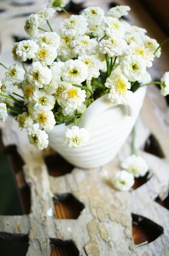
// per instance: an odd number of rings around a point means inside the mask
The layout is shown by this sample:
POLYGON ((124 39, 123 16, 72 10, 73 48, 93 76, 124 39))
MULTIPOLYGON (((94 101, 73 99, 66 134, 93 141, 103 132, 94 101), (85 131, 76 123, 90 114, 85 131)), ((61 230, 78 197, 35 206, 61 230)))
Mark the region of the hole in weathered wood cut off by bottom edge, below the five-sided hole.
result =
POLYGON ((79 250, 73 241, 51 240, 51 256, 79 256, 79 250))

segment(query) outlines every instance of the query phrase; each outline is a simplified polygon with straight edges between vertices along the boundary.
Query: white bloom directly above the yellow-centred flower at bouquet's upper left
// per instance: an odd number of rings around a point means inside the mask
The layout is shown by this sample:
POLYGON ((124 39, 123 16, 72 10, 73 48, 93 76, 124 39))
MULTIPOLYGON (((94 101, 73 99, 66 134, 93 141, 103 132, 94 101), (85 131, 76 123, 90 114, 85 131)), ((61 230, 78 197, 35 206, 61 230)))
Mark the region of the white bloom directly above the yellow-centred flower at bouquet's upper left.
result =
POLYGON ((42 43, 51 45, 56 49, 59 47, 60 37, 56 32, 45 32, 44 34, 39 34, 35 39, 35 42, 41 46, 42 43))

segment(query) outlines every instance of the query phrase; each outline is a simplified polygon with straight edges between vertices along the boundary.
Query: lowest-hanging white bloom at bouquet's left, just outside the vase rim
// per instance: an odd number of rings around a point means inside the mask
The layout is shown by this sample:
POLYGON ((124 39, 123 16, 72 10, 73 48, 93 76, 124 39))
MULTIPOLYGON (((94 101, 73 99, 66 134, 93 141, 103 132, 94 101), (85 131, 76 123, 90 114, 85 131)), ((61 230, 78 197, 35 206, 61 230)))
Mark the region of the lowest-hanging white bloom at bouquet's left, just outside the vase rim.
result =
POLYGON ((42 150, 48 146, 48 134, 45 131, 39 129, 38 124, 32 125, 31 128, 27 129, 29 143, 34 145, 35 148, 42 150))

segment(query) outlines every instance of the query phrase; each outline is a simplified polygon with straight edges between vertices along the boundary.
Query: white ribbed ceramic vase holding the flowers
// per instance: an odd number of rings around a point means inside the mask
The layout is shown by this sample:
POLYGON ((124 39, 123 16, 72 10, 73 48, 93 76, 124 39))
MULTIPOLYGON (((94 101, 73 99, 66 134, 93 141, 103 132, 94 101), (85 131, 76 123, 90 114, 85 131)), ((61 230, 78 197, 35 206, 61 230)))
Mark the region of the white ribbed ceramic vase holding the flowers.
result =
POLYGON ((82 149, 69 149, 63 142, 67 128, 74 124, 55 125, 48 131, 49 145, 69 163, 80 168, 94 168, 109 163, 127 140, 144 101, 146 87, 134 93, 128 105, 117 105, 101 96, 78 119, 79 128, 89 131, 90 140, 82 149))

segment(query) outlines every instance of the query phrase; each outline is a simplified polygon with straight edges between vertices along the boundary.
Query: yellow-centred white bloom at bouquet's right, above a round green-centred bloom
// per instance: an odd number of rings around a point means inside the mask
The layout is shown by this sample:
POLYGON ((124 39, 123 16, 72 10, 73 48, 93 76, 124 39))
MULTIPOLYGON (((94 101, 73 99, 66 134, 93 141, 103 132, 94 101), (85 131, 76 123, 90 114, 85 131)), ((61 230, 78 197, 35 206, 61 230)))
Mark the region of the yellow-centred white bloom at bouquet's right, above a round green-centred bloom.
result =
POLYGON ((148 48, 144 47, 144 45, 132 43, 130 44, 130 54, 139 55, 146 61, 147 67, 152 67, 152 61, 154 60, 154 55, 149 51, 148 48))

